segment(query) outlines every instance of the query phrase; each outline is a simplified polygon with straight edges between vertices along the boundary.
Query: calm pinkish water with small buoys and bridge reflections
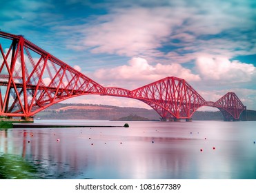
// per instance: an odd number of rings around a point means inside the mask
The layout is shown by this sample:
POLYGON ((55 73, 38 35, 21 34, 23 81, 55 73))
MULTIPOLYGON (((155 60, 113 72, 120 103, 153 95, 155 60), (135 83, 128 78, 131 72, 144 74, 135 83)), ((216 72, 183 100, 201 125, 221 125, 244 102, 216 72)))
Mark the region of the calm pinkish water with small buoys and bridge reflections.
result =
POLYGON ((0 130, 0 178, 256 179, 256 122, 128 123, 0 130))

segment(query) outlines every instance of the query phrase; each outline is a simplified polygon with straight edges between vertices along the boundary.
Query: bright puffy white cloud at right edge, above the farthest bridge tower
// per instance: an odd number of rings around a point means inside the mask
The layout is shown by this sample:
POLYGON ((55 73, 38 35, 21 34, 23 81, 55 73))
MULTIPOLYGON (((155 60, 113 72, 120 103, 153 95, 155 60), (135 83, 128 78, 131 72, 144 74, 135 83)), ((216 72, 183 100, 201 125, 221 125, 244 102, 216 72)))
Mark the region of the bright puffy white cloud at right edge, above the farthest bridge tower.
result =
POLYGON ((230 61, 226 58, 199 57, 196 68, 206 81, 244 83, 256 76, 253 64, 230 61))

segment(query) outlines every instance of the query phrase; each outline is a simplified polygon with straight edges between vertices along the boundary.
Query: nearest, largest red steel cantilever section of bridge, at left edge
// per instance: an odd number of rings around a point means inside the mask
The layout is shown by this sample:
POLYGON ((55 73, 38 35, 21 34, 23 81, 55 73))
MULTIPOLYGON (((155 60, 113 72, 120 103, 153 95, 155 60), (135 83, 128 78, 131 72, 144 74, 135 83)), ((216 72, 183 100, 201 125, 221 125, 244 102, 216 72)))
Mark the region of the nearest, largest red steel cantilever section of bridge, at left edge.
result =
POLYGON ((22 36, 0 32, 0 37, 5 43, 1 39, 1 116, 32 116, 70 97, 104 92, 101 85, 22 36))

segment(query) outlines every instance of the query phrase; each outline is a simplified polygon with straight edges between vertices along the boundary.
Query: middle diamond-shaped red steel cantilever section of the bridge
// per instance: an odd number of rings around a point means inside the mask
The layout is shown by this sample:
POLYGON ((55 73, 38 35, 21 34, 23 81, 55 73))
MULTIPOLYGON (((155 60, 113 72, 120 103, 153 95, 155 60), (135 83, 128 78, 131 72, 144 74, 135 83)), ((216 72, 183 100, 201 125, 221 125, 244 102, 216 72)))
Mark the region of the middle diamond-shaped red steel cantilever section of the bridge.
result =
POLYGON ((190 118, 206 102, 191 85, 177 77, 166 77, 132 90, 132 97, 150 105, 162 118, 176 119, 190 118))

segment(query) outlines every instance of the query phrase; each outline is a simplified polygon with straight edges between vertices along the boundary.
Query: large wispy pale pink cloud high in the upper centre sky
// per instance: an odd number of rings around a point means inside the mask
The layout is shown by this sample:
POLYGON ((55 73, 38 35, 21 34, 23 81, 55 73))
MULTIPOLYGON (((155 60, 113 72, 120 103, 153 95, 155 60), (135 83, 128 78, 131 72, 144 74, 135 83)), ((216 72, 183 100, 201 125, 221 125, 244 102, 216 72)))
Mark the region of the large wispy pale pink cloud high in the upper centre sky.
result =
POLYGON ((170 19, 170 13, 166 8, 115 10, 99 17, 98 25, 86 29, 83 43, 94 53, 133 57, 155 52, 166 41, 171 26, 181 24, 180 19, 170 19))

